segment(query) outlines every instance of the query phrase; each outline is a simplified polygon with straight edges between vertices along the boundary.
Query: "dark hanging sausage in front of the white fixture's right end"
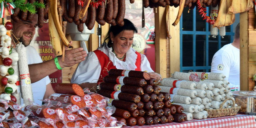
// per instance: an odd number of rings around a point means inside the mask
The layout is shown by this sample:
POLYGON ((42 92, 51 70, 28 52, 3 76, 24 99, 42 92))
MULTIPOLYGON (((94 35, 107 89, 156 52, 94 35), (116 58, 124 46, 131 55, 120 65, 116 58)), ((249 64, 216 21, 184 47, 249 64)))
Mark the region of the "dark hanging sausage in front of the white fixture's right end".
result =
MULTIPOLYGON (((95 2, 95 0, 91 1, 95 2)), ((92 30, 96 21, 96 8, 93 7, 93 5, 89 5, 88 16, 89 17, 87 17, 88 20, 86 20, 85 25, 89 30, 92 30)))

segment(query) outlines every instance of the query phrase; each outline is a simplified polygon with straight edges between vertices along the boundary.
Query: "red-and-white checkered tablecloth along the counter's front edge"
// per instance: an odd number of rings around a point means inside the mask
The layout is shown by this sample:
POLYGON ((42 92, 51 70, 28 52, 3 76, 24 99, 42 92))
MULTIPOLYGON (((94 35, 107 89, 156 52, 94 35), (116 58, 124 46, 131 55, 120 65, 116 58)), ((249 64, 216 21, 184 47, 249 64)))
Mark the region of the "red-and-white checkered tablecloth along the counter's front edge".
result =
POLYGON ((125 128, 256 128, 254 115, 223 116, 203 120, 193 119, 182 123, 166 123, 158 125, 126 126, 125 128))

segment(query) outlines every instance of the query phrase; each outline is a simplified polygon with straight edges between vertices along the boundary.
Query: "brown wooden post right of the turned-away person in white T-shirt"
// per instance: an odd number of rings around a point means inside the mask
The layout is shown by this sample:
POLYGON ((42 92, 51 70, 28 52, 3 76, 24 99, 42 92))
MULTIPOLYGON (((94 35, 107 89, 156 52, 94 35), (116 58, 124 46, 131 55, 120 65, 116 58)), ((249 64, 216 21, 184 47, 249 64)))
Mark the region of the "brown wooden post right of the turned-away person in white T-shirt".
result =
POLYGON ((248 12, 240 13, 240 90, 249 90, 248 81, 248 12))

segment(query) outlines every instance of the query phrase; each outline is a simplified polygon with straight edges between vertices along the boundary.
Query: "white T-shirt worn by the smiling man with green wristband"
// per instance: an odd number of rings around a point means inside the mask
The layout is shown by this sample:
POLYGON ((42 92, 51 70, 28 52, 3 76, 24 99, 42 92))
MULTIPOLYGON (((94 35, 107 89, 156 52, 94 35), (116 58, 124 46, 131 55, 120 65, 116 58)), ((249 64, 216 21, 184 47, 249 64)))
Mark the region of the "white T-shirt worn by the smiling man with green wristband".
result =
MULTIPOLYGON (((37 53, 37 50, 34 47, 28 45, 26 47, 26 50, 27 50, 28 65, 43 62, 42 58, 37 53)), ((50 82, 51 81, 49 76, 46 76, 45 78, 35 83, 32 83, 34 101, 38 105, 42 105, 42 101, 40 100, 43 99, 43 96, 45 95, 45 91, 46 91, 46 85, 48 85, 50 82)), ((21 103, 23 104, 23 99, 21 99, 21 103)))

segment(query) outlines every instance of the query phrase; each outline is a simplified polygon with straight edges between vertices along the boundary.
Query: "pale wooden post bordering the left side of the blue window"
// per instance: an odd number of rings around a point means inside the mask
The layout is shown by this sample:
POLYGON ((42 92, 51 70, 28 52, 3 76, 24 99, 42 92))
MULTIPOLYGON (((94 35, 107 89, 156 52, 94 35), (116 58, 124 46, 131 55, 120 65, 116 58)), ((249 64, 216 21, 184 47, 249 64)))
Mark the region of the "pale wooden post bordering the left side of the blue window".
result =
POLYGON ((170 7, 170 73, 180 71, 180 22, 175 27, 172 25, 178 11, 179 8, 170 7))

